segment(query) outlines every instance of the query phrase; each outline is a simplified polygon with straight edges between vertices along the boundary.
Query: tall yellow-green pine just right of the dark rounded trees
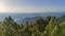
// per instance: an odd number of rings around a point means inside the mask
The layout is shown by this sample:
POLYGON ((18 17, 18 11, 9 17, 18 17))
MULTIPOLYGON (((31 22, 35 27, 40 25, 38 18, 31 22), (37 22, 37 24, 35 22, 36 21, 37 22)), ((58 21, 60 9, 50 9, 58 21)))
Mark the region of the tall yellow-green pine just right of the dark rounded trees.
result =
POLYGON ((52 33, 55 24, 56 24, 56 18, 52 17, 49 24, 46 26, 46 31, 47 31, 49 36, 51 36, 51 33, 52 33))

